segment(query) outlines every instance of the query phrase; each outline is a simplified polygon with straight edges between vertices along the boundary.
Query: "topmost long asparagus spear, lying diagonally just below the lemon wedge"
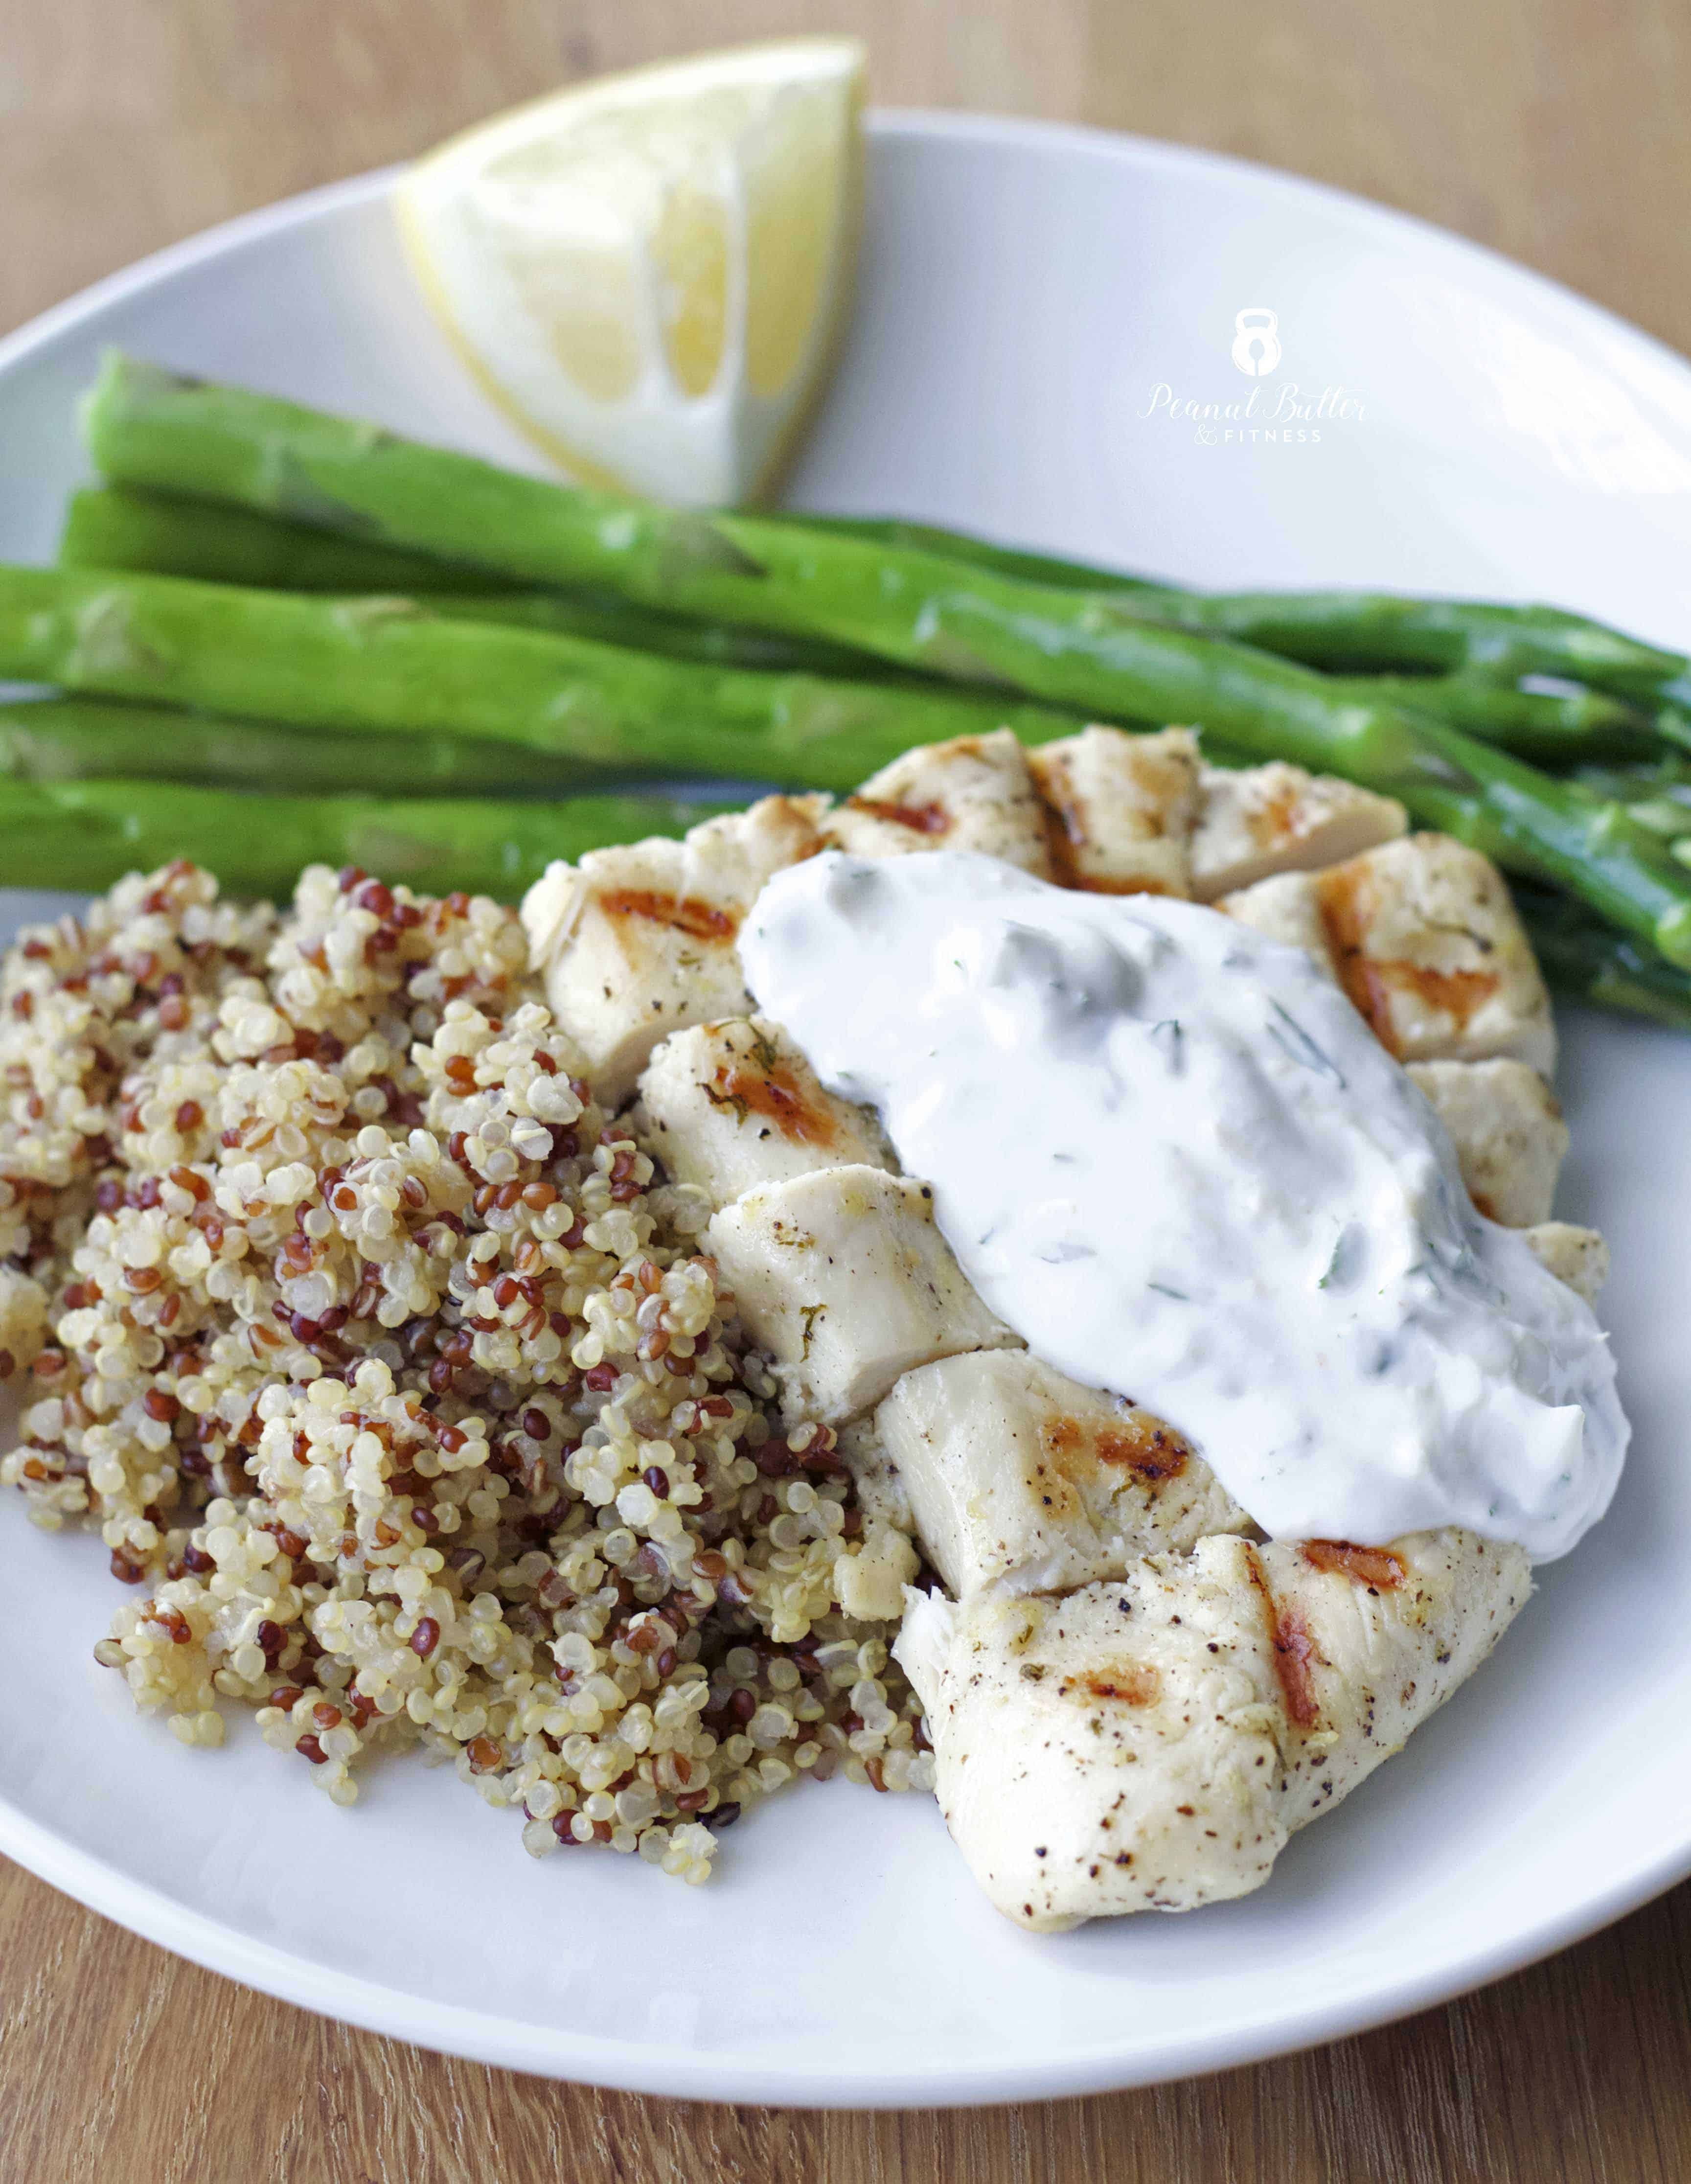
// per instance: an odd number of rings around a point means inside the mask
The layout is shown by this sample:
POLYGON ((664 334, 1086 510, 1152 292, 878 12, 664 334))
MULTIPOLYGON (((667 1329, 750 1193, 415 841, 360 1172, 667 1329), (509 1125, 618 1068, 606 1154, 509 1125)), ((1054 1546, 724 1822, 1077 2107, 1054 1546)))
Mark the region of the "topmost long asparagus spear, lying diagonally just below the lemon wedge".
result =
MULTIPOLYGON (((1195 721, 1263 758, 1394 793, 1422 823, 1558 880, 1671 961, 1691 963, 1691 878, 1617 806, 1431 714, 1361 701, 1221 638, 1158 627, 1134 614, 1132 594, 1031 585, 913 548, 575 491, 122 358, 107 363, 87 428, 96 461, 125 483, 175 480, 531 583, 610 585, 642 605, 819 636, 1103 719, 1195 721)), ((926 734, 911 716, 907 740, 926 734)), ((830 734, 839 769, 824 773, 824 743, 811 740, 811 780, 841 786, 843 775, 865 773, 856 745, 850 729, 830 734)))

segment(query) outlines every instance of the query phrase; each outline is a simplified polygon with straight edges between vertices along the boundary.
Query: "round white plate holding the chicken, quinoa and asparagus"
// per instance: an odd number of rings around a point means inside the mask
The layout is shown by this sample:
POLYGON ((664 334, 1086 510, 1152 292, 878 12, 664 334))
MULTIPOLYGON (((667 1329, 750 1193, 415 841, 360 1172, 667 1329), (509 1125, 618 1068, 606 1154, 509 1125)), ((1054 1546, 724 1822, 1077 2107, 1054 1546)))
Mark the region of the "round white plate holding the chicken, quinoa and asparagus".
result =
MULTIPOLYGON (((72 397, 111 341, 524 461, 417 306, 382 197, 371 177, 238 221, 0 345, 0 553, 50 550, 72 397)), ((1540 594, 1691 638, 1682 363, 1411 221, 1071 129, 876 124, 863 297, 795 494, 1210 583, 1540 594), (1230 358, 1247 308, 1278 314, 1261 380, 1230 358), (1361 415, 1291 441, 1145 415, 1158 387, 1258 389, 1261 419, 1293 382, 1361 415)), ((15 1507, 0 1848, 315 2009, 734 2101, 994 2101, 1221 2068, 1617 1918, 1691 1870, 1691 1044, 1566 1029, 1564 1212, 1615 1241, 1630 1474, 1499 1658, 1258 1896, 1033 1939, 988 1909, 933 1804, 843 1784, 749 1819, 708 1889, 623 1859, 537 1865, 511 1815, 415 1765, 341 1813, 249 1730, 190 1754, 135 1719, 90 1658, 118 1599, 98 1544, 15 1507)))

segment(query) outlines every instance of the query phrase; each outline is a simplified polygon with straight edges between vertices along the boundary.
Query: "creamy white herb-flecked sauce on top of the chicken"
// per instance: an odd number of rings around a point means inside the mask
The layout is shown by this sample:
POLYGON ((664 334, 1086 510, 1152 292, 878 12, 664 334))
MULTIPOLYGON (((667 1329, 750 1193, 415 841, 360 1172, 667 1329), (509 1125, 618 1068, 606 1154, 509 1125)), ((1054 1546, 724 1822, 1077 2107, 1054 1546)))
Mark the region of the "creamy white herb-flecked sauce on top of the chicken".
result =
POLYGON ((1549 1559, 1604 1514, 1628 1424, 1595 1315, 1473 1210, 1302 950, 937 852, 778 874, 741 959, 992 1310, 1178 1426, 1267 1533, 1466 1524, 1549 1559))

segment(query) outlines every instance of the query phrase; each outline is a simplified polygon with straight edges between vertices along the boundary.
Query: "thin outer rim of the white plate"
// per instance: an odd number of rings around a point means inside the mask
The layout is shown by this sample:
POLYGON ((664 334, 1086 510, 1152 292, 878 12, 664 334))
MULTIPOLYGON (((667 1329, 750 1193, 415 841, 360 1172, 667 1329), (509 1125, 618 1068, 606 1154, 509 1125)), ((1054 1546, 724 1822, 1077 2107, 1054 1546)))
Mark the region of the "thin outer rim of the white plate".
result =
MULTIPOLYGON (((1232 153, 1171 144, 1156 138, 1110 131, 1079 122, 1051 122, 1027 116, 968 114, 948 109, 872 109, 870 131, 883 140, 950 140, 990 146, 1025 146, 1060 155, 1086 155, 1138 170, 1162 170, 1175 177, 1221 177, 1247 181, 1252 188, 1339 212, 1350 225, 1370 234, 1400 236, 1418 247, 1438 247, 1466 258, 1488 280, 1503 280, 1516 293, 1532 295, 1538 308, 1575 319, 1582 330, 1601 330, 1610 341, 1667 371, 1691 389, 1691 360, 1665 341, 1632 325, 1601 304, 1582 297, 1566 284, 1523 266, 1466 236, 1457 236, 1416 214, 1379 205, 1350 190, 1241 159, 1232 153)), ((4 376, 63 334, 85 328, 109 308, 129 301, 223 256, 269 240, 323 214, 356 207, 382 197, 402 166, 382 166, 341 181, 330 181, 251 212, 236 214, 179 242, 166 245, 76 290, 24 325, 0 336, 0 402, 4 376)), ((832 2064, 826 2068, 771 2060, 754 2051, 721 2053, 684 2046, 655 2046, 640 2040, 614 2040, 594 2033, 544 2029, 520 2018, 502 2018, 457 2003, 413 1996, 330 1966, 312 1963, 286 1948, 260 1942, 203 1911, 194 1911, 164 1891, 138 1883, 118 1865, 55 1835, 42 1821, 22 1813, 0 1793, 0 1852, 26 1872, 72 1896, 76 1902, 114 1920, 205 1970, 236 1979, 277 2001, 341 2018, 365 2031, 409 2040, 437 2053, 463 2055, 498 2068, 575 2079, 627 2092, 660 2094, 693 2101, 736 2101, 800 2108, 929 2108, 929 2105, 996 2105, 1027 2099, 1073 2099, 1134 2086, 1239 2068, 1267 2062, 1298 2049, 1324 2044, 1370 2031, 1379 2025, 1414 2016, 1468 1994, 1490 1981, 1525 1970, 1545 1957, 1569 1948, 1591 1933, 1625 1918, 1691 1874, 1691 1821, 1682 1841, 1645 1859, 1628 1872, 1566 1907, 1560 1915, 1538 1920, 1529 1928, 1492 1939, 1462 1959, 1448 1959, 1411 1979, 1374 1983, 1368 1994, 1357 1987, 1320 2005, 1306 2005, 1274 2022, 1221 2027, 1204 2035, 1182 2035, 1162 2046, 1138 2046, 1132 2055, 1112 2046, 1092 2046, 1060 2062, 1038 2062, 1020 2068, 992 2064, 948 2064, 942 2068, 889 2068, 885 2064, 832 2064)), ((1057 1944, 1060 1946, 1060 1944, 1057 1944)))

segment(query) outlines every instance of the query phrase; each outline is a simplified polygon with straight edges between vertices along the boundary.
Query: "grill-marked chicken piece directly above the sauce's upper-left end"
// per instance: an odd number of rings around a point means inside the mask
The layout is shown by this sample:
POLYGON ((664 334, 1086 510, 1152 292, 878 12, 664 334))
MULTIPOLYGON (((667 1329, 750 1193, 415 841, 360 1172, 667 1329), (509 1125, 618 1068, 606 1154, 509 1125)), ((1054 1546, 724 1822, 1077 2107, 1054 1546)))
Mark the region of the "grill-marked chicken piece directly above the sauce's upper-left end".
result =
POLYGON ((1051 878, 1044 808, 1007 727, 896 758, 832 812, 828 841, 852 856, 979 850, 1051 878))

